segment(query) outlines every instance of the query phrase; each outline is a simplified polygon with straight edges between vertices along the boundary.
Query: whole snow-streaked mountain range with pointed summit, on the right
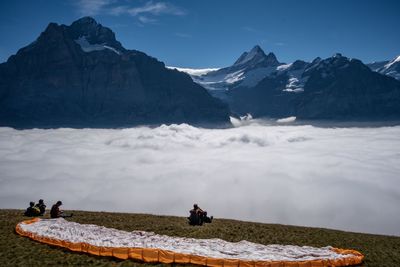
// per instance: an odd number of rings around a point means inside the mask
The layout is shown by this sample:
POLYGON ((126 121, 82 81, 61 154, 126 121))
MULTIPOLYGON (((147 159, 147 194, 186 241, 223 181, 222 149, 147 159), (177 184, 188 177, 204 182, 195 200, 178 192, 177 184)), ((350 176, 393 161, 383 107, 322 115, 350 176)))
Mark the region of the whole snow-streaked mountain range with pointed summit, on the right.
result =
MULTIPOLYGON (((256 46, 243 53, 232 66, 205 75, 192 75, 192 78, 229 103, 239 115, 345 120, 400 117, 400 83, 371 71, 357 59, 337 53, 326 59, 317 57, 312 62, 296 60, 284 64, 274 56, 275 60, 266 64, 266 57, 256 46), (264 65, 260 66, 260 62, 264 65), (264 71, 264 66, 269 66, 269 70, 264 71), (237 70, 247 75, 238 75, 237 70), (262 75, 253 82, 253 77, 248 75, 251 72, 262 75), (231 76, 222 77, 232 78, 234 82, 220 79, 218 83, 210 83, 215 73, 228 73, 231 76)), ((393 70, 397 63, 392 60, 375 67, 393 70)))

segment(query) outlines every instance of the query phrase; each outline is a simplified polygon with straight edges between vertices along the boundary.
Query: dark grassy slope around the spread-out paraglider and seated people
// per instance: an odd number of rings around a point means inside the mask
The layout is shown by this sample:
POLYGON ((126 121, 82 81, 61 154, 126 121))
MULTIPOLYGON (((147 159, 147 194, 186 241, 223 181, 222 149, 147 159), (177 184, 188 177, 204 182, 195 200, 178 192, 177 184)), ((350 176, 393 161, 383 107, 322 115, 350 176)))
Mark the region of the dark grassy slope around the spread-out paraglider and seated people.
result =
MULTIPOLYGON (((0 210, 0 266, 158 266, 70 252, 21 237, 14 229, 18 222, 26 219, 22 213, 22 210, 0 210)), ((73 213, 71 221, 126 231, 144 230, 172 236, 221 238, 233 242, 245 239, 261 244, 330 245, 356 249, 366 256, 362 266, 400 266, 400 237, 224 219, 215 219, 212 224, 202 227, 192 227, 182 217, 86 211, 73 213)))

